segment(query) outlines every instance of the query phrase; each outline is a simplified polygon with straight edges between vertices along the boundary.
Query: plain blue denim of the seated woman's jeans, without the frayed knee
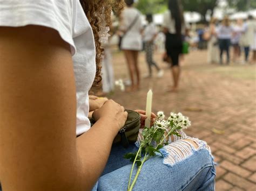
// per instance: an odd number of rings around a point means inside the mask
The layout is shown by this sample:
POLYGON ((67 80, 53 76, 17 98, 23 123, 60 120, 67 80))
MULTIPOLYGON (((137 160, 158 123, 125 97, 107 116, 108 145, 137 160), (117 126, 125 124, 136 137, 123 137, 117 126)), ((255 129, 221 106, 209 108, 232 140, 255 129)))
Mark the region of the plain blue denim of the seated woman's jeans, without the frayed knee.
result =
MULTIPOLYGON (((134 145, 127 150, 119 148, 113 146, 104 173, 93 190, 127 189, 132 164, 122 157, 137 148, 134 145)), ((215 167, 206 148, 193 151, 176 164, 166 165, 163 160, 156 156, 146 161, 133 190, 214 190, 215 167)))

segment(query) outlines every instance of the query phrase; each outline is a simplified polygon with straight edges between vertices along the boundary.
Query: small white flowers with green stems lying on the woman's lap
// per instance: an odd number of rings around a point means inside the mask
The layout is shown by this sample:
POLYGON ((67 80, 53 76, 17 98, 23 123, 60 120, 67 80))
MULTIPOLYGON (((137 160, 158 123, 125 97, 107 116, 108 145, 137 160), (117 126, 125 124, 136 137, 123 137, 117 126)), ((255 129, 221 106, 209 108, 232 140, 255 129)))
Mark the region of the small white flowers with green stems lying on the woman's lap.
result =
POLYGON ((142 131, 143 140, 140 142, 138 151, 127 153, 124 156, 124 158, 130 159, 133 162, 127 190, 133 189, 145 161, 156 155, 157 152, 163 156, 160 149, 168 144, 167 138, 171 135, 181 137, 178 130, 187 129, 190 125, 191 122, 188 120, 188 117, 183 116, 181 113, 174 114, 171 112, 167 120, 165 119, 164 112, 159 111, 157 113, 153 126, 145 127, 142 131), (137 164, 137 173, 131 182, 135 164, 137 164))

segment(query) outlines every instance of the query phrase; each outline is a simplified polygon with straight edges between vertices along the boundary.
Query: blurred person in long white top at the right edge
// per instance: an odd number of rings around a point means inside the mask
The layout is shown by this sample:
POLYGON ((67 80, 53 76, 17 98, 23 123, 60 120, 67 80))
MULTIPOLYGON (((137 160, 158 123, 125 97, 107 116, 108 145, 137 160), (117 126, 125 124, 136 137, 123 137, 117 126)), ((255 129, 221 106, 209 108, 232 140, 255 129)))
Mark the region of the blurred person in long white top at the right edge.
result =
POLYGON ((241 36, 241 46, 244 47, 245 59, 243 63, 247 63, 250 54, 250 48, 253 48, 254 32, 256 31, 256 23, 253 17, 250 15, 247 22, 244 24, 244 32, 241 36))

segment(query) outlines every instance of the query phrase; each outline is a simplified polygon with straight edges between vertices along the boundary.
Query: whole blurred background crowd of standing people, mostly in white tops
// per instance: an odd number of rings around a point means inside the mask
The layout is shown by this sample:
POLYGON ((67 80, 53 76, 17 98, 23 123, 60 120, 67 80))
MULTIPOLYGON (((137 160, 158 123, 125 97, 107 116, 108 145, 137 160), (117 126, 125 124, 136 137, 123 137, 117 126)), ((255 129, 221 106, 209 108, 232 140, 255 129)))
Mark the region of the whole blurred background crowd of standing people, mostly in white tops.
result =
MULTIPOLYGON (((180 76, 179 62, 184 54, 195 49, 207 49, 207 62, 229 65, 230 63, 256 63, 256 19, 222 20, 212 18, 209 23, 186 23, 182 5, 179 1, 169 1, 168 10, 164 13, 161 25, 153 22, 151 13, 145 16, 133 6, 133 0, 126 0, 126 8, 121 15, 113 15, 114 27, 111 35, 118 37, 119 50, 124 53, 129 80, 126 80, 126 91, 140 88, 140 80, 151 78, 154 70, 156 76, 164 72, 154 60, 154 52, 163 53, 163 61, 170 64, 173 84, 167 91, 178 91, 180 76), (118 23, 117 25, 115 23, 118 23), (138 56, 145 52, 145 63, 148 73, 141 75, 138 56), (225 56, 224 56, 225 55, 225 56)), ((111 40, 110 40, 111 41, 111 40)), ((103 59, 103 92, 114 89, 111 49, 105 46, 103 59)), ((119 83, 119 82, 118 82, 119 83)))

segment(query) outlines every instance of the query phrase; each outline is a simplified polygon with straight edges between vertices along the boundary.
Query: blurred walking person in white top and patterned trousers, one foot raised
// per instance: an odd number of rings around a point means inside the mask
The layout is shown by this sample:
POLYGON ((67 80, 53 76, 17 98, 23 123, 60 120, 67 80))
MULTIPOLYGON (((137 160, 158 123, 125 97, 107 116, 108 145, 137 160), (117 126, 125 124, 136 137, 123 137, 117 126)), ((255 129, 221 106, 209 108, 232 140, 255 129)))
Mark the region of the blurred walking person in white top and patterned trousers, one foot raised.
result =
POLYGON ((161 70, 157 63, 153 60, 154 40, 156 39, 158 34, 157 26, 153 23, 152 14, 147 14, 146 20, 147 22, 149 22, 144 30, 146 61, 147 66, 149 67, 149 74, 146 77, 152 77, 152 66, 154 66, 158 71, 157 77, 162 77, 164 73, 163 70, 161 70))

